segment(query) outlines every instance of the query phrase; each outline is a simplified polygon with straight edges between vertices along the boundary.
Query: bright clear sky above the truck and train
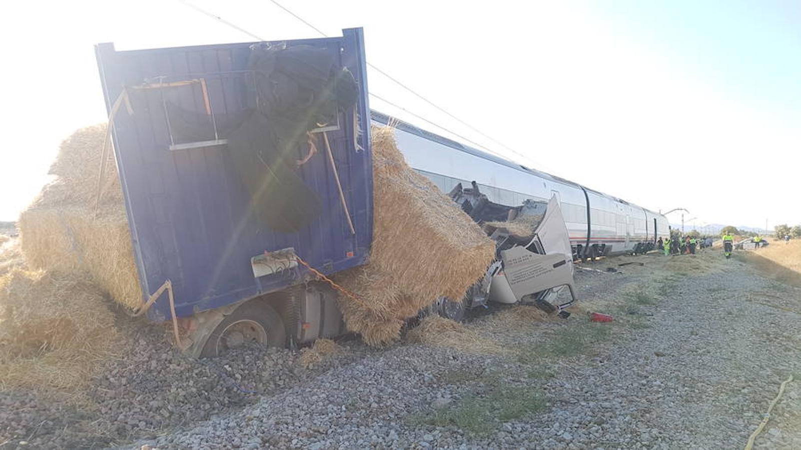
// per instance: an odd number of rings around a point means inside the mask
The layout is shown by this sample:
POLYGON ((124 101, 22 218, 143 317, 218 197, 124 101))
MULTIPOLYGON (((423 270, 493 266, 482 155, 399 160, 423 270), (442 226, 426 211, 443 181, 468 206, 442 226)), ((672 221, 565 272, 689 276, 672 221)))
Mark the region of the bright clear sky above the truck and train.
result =
MULTIPOLYGON (((797 0, 279 1, 326 34, 364 26, 372 64, 515 152, 376 72, 371 92, 518 163, 697 224, 801 223, 797 0)), ((193 3, 264 39, 318 36, 268 0, 193 3)), ((3 10, 0 220, 33 199, 62 139, 104 121, 93 44, 252 41, 172 0, 3 10)))

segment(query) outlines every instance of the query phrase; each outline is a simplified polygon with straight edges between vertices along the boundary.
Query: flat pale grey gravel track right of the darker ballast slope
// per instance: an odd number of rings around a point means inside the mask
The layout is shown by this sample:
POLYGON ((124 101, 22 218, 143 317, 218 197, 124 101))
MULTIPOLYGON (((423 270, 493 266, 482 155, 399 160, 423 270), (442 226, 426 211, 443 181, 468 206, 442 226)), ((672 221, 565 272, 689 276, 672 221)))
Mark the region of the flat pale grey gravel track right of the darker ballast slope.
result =
MULTIPOLYGON (((484 322, 491 319, 480 319, 470 327, 490 336, 506 332, 515 338, 508 354, 473 355, 402 345, 265 397, 240 412, 160 436, 151 444, 192 448, 743 447, 779 383, 790 373, 801 373, 799 315, 760 303, 798 307, 801 302, 794 288, 763 279, 744 263, 721 262, 718 257, 695 257, 702 268, 696 270, 693 264, 689 272, 683 267, 665 271, 660 266, 666 259, 647 256, 632 259, 645 266, 621 267, 622 274, 580 273, 585 305, 622 311, 622 316, 610 325, 608 334, 590 335, 597 340, 576 352, 562 352, 564 356, 537 356, 537 363, 530 364, 521 359, 525 353, 520 349, 547 347, 545 340, 572 339, 577 330, 590 328, 582 315, 515 330, 487 327, 484 322), (718 266, 723 271, 707 271, 718 266), (655 291, 662 287, 664 295, 625 294, 626 288, 643 285, 655 291), (624 295, 613 298, 610 290, 624 295), (555 376, 533 376, 531 371, 537 368, 552 370, 555 376), (460 371, 472 375, 454 375, 460 371), (489 431, 469 420, 460 422, 468 414, 462 408, 465 402, 475 404, 476 395, 486 394, 481 385, 493 382, 539 383, 545 408, 517 419, 497 420, 489 431), (434 408, 456 411, 452 422, 463 426, 426 420, 434 408)), ((799 392, 798 383, 792 384, 774 420, 757 439, 758 448, 801 448, 799 392)), ((500 416, 503 408, 495 411, 500 416)))

